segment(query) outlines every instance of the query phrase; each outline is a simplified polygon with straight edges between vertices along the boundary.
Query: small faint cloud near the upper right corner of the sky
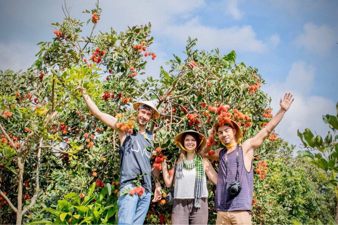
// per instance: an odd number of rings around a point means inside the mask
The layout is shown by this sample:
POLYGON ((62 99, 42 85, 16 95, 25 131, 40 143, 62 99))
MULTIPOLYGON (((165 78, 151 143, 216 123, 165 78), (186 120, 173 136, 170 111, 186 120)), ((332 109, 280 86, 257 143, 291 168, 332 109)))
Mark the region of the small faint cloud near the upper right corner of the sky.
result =
POLYGON ((337 36, 338 32, 326 24, 307 23, 303 26, 303 33, 296 37, 295 44, 309 52, 326 54, 336 45, 337 36))

